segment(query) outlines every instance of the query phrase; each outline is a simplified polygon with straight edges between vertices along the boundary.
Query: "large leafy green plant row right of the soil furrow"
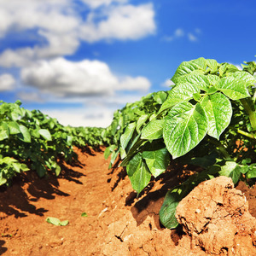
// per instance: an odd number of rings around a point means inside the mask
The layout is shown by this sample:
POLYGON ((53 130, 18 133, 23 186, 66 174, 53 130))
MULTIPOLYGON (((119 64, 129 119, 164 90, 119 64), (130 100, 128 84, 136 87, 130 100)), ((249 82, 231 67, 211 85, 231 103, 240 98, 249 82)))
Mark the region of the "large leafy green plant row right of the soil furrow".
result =
POLYGON ((160 209, 166 228, 177 227, 179 201, 201 181, 224 175, 234 183, 256 177, 256 79, 254 61, 242 70, 199 58, 183 61, 171 90, 149 94, 114 113, 110 167, 120 156, 132 188, 140 194, 171 162, 202 171, 168 191, 160 209))

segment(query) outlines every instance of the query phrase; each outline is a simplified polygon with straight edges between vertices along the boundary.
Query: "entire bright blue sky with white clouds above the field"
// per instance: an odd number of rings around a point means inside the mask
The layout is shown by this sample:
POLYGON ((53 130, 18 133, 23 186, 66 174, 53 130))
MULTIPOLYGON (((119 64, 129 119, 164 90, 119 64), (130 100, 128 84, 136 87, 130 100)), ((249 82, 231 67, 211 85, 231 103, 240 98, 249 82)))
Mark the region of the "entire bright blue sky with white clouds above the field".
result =
POLYGON ((106 127, 182 61, 255 61, 255 17, 255 0, 0 0, 0 100, 106 127))

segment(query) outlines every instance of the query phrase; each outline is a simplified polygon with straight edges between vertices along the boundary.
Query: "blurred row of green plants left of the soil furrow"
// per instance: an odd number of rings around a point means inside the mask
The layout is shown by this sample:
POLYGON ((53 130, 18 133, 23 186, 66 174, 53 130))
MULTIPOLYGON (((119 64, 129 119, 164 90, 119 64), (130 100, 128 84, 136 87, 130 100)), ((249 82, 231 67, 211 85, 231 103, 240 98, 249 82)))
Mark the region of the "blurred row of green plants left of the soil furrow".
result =
POLYGON ((17 173, 28 170, 36 171, 39 177, 48 171, 58 176, 58 160, 75 160, 73 146, 97 148, 110 143, 108 137, 102 137, 102 128, 63 126, 20 105, 20 101, 0 102, 0 185, 9 185, 17 173))

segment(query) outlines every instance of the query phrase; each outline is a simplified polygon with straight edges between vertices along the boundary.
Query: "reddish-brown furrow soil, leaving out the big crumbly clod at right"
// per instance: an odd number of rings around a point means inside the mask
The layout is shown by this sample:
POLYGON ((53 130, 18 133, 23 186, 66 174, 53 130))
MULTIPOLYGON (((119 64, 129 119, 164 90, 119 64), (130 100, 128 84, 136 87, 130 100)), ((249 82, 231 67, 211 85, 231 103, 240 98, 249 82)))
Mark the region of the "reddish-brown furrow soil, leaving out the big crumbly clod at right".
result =
MULTIPOLYGON (((1 255, 207 255, 182 227, 167 230, 159 221, 166 191, 191 171, 172 166, 137 198, 125 170, 108 170, 102 152, 76 152, 79 162, 63 165, 61 177, 40 179, 26 172, 0 191, 1 255), (45 221, 48 217, 69 224, 55 226, 45 221)), ((255 217, 256 189, 244 183, 236 189, 245 193, 255 217)))

